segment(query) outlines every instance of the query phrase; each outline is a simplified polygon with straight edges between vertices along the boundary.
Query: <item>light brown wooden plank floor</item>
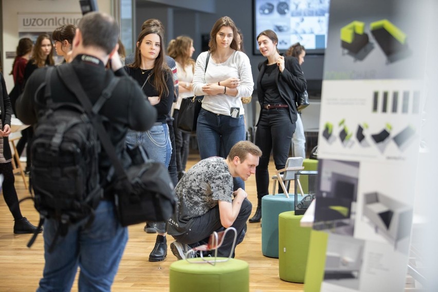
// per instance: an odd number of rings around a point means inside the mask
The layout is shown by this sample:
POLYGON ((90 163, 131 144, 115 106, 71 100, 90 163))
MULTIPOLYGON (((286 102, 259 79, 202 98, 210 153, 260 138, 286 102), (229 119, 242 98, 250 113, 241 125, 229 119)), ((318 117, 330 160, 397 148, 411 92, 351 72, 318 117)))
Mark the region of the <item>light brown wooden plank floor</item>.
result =
MULTIPOLYGON (((198 161, 191 154, 188 168, 198 161)), ((269 163, 269 171, 274 171, 269 163)), ((27 196, 20 175, 15 176, 15 187, 19 198, 27 196)), ((269 190, 272 186, 269 187, 269 190)), ((255 177, 246 182, 248 198, 257 207, 255 177)), ((33 224, 38 224, 38 213, 30 200, 21 204, 21 210, 33 224)), ((252 214, 253 214, 252 213, 252 214)), ((252 216, 251 214, 251 216, 252 216)), ((129 227, 129 242, 123 254, 119 271, 113 284, 113 291, 169 291, 169 266, 176 258, 168 248, 168 257, 162 262, 148 261, 155 244, 156 234, 143 231, 143 224, 129 227)), ((43 236, 39 235, 33 246, 26 247, 30 234, 14 234, 13 219, 3 199, 0 199, 0 291, 35 291, 42 277, 44 267, 43 236)), ((262 255, 261 226, 249 224, 245 240, 236 248, 236 258, 249 263, 250 291, 303 291, 303 284, 289 283, 278 276, 278 259, 262 255)), ((172 242, 168 236, 168 245, 172 242)), ((77 291, 77 281, 72 291, 77 291)), ((206 288, 208 291, 208 288, 206 288)), ((189 292, 189 291, 188 291, 189 292)))

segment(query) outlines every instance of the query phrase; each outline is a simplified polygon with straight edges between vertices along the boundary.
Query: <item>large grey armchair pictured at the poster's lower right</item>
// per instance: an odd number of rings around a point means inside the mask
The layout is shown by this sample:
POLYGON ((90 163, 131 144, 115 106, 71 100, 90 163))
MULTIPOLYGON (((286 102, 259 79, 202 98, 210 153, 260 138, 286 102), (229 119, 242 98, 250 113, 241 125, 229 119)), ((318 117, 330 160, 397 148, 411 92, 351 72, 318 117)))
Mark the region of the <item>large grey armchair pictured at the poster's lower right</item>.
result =
POLYGON ((364 194, 363 216, 367 217, 375 232, 394 243, 410 235, 412 207, 378 192, 364 194))

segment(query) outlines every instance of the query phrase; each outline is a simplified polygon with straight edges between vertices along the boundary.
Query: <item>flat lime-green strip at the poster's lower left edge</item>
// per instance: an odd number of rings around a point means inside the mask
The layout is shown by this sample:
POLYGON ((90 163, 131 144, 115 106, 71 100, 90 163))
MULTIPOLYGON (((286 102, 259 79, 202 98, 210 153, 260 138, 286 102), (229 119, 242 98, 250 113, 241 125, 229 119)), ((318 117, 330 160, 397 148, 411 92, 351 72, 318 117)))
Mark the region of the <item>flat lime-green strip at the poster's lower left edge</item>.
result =
POLYGON ((319 292, 321 290, 327 242, 327 232, 312 230, 306 267, 309 272, 304 277, 304 292, 319 292))

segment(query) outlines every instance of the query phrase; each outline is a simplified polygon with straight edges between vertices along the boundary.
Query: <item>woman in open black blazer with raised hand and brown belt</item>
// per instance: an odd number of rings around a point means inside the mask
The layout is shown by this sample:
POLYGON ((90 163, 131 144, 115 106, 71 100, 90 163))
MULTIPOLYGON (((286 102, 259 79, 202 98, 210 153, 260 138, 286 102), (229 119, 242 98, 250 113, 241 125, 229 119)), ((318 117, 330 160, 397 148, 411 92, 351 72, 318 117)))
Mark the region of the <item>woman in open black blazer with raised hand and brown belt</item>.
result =
POLYGON ((260 52, 267 60, 259 64, 257 80, 257 93, 262 109, 256 125, 255 144, 263 154, 255 171, 258 205, 250 223, 260 222, 262 218, 262 197, 268 194, 269 187, 268 163, 271 151, 276 169, 285 166, 297 120, 296 96, 307 88, 298 60, 280 56, 275 32, 270 29, 262 31, 257 36, 257 42, 260 52))

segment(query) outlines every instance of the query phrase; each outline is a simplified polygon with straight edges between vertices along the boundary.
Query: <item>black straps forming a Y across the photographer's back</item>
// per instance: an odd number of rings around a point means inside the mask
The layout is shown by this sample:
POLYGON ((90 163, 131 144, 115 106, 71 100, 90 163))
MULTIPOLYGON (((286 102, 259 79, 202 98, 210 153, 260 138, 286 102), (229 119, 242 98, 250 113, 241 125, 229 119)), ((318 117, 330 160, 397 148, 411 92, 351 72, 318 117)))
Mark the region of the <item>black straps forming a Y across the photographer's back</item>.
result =
POLYGON ((82 106, 85 109, 85 112, 89 116, 93 125, 96 127, 96 131, 99 135, 100 142, 106 154, 108 155, 109 159, 111 159, 111 162, 113 163, 118 179, 124 184, 126 190, 131 190, 132 189, 131 184, 129 184, 129 182, 127 181, 126 172, 123 169, 122 163, 117 157, 114 145, 111 142, 111 139, 109 139, 108 133, 106 133, 101 117, 97 114, 101 105, 111 97, 112 91, 116 87, 119 78, 113 78, 110 81, 109 85, 103 90, 95 106, 92 107, 92 103, 89 101, 88 98, 86 98, 87 95, 84 89, 82 88, 82 85, 78 79, 75 70, 68 65, 69 64, 58 66, 58 72, 61 79, 64 81, 67 88, 72 93, 74 93, 76 98, 81 102, 82 106), (66 80, 68 80, 68 82, 66 82, 66 80))

